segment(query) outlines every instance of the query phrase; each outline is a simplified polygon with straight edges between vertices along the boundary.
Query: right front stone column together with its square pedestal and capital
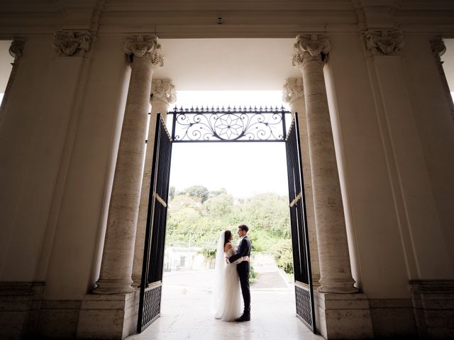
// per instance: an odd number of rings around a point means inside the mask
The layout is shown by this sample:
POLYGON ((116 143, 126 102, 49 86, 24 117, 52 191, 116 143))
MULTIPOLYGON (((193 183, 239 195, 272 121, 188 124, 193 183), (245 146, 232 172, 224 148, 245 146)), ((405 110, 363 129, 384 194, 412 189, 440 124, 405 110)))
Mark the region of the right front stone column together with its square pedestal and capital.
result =
POLYGON ((317 329, 326 339, 373 337, 369 302, 355 288, 323 65, 331 39, 299 35, 293 65, 303 73, 312 191, 319 246, 320 283, 315 292, 317 329), (357 293, 357 294, 348 294, 357 293))

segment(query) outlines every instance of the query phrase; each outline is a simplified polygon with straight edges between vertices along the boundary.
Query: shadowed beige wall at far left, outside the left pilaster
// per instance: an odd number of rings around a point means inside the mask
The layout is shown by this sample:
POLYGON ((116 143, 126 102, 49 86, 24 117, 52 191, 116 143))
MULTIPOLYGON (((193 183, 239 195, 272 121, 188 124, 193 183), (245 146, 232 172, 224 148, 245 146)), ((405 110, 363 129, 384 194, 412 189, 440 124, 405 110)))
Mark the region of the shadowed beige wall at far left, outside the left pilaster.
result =
POLYGON ((36 280, 77 89, 81 60, 55 58, 49 42, 26 43, 0 123, 1 280, 36 280))

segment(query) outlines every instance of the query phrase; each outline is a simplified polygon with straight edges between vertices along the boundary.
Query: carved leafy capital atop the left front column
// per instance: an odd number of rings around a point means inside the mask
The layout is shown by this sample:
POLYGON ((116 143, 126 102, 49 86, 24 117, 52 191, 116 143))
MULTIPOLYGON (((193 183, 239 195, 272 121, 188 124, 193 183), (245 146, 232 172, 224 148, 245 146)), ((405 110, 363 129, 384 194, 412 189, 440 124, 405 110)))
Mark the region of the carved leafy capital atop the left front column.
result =
POLYGON ((156 35, 133 35, 126 38, 123 47, 131 62, 133 57, 144 58, 154 69, 164 64, 156 35))

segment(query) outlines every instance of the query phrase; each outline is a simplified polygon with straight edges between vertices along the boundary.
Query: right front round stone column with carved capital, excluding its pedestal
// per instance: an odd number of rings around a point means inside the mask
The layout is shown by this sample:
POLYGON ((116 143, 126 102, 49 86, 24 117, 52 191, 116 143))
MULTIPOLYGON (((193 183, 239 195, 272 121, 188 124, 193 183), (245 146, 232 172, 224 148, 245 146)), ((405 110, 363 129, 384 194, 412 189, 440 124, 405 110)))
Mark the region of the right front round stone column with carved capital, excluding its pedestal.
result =
POLYGON ((331 40, 323 35, 299 35, 294 66, 304 80, 321 293, 355 293, 339 182, 333 131, 326 98, 323 65, 331 40))

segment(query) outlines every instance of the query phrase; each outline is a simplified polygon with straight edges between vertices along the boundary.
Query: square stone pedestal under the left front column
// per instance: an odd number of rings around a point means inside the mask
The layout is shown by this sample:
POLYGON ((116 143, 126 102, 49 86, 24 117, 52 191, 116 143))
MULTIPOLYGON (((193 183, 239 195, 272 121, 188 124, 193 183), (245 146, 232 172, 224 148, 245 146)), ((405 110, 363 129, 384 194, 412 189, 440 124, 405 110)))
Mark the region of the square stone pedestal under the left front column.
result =
POLYGON ((125 339, 137 331, 139 291, 87 294, 77 325, 77 339, 125 339))

